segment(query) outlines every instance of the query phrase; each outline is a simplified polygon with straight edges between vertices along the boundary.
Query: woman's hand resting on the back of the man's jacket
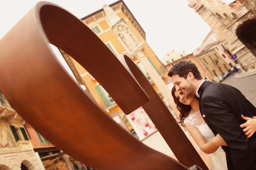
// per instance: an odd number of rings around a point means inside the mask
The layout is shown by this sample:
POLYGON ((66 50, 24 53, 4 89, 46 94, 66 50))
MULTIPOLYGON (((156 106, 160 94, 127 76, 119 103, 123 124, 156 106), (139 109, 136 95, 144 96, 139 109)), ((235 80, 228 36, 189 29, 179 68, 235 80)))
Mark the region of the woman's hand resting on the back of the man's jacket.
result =
POLYGON ((244 115, 241 115, 241 117, 242 119, 246 120, 246 122, 240 125, 240 127, 244 128, 244 133, 247 135, 248 138, 250 138, 256 132, 256 119, 245 117, 244 115))

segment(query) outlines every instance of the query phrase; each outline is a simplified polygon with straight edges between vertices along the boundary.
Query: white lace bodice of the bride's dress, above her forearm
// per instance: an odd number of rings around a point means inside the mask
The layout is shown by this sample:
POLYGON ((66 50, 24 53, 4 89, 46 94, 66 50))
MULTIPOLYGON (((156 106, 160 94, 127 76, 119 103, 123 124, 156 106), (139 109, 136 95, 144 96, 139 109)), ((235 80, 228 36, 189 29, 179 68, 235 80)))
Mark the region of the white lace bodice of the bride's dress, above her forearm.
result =
POLYGON ((184 119, 183 123, 185 126, 186 124, 195 126, 207 143, 215 137, 215 135, 212 133, 212 130, 204 121, 200 112, 190 113, 189 116, 184 119))

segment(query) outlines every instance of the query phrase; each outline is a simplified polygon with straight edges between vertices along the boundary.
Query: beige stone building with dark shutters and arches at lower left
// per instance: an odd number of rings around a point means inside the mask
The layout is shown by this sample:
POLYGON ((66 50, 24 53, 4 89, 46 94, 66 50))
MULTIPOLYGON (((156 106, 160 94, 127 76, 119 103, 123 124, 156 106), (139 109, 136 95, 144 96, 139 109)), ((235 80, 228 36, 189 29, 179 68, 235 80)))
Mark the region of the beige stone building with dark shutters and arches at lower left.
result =
POLYGON ((44 170, 25 123, 0 91, 0 170, 44 170))

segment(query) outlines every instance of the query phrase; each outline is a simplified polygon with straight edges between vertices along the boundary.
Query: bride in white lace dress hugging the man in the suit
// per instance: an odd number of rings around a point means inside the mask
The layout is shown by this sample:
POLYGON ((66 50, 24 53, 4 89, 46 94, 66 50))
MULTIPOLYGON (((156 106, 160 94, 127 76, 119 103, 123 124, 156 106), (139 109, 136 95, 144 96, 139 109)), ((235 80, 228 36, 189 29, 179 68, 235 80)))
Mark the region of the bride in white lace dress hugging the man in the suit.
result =
MULTIPOLYGON (((180 112, 180 125, 186 127, 200 149, 209 154, 211 170, 227 170, 226 153, 221 148, 227 144, 219 134, 215 136, 204 121, 200 113, 199 101, 193 96, 184 100, 184 96, 180 91, 176 91, 175 86, 172 88, 172 96, 180 112)), ((242 118, 247 122, 241 127, 247 127, 244 128, 244 132, 251 137, 256 131, 256 119, 244 116, 242 118)))

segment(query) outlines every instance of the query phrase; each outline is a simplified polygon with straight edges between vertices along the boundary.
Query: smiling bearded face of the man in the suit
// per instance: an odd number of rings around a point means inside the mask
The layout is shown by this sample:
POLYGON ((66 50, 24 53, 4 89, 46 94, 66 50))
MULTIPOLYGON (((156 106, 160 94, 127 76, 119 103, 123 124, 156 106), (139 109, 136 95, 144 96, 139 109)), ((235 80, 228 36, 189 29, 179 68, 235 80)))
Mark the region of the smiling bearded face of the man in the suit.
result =
POLYGON ((180 91, 184 96, 193 95, 193 84, 189 78, 185 79, 178 74, 172 76, 172 82, 175 85, 176 91, 180 91))

